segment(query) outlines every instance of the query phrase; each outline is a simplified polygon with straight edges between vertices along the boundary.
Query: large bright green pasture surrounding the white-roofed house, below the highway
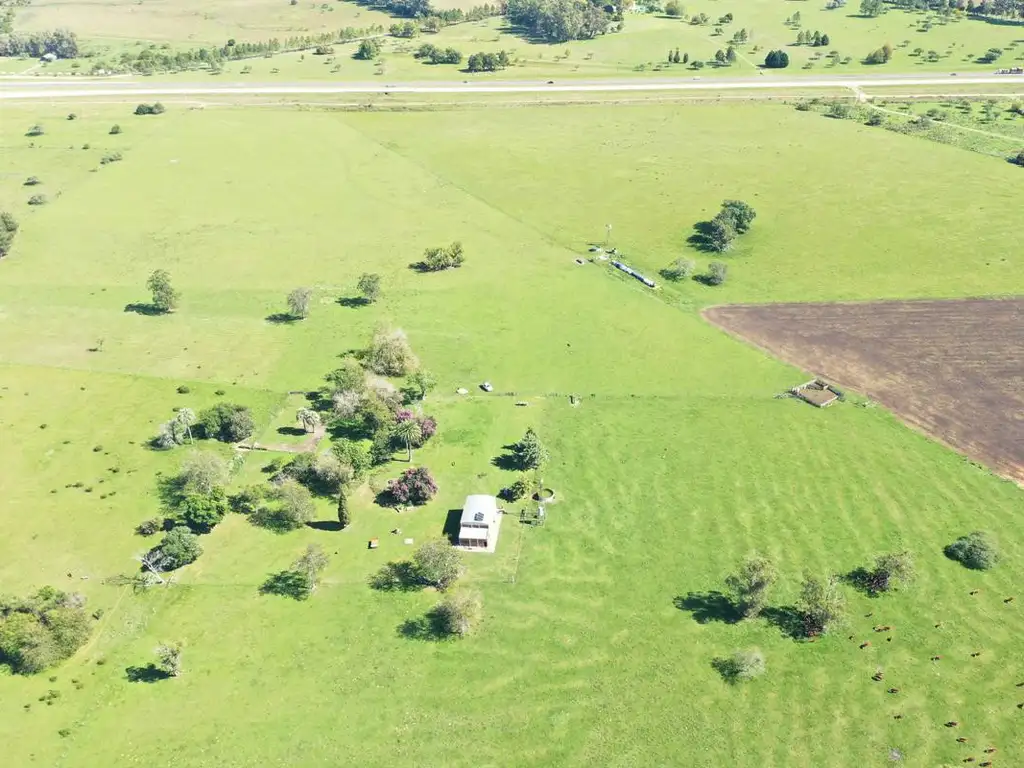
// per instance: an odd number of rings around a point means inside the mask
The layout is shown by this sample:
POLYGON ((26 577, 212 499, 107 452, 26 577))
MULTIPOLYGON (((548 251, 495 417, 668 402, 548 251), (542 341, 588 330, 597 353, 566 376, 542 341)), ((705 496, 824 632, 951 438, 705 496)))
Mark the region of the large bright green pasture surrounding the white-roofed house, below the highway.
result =
MULTIPOLYGON (((131 110, 34 103, 0 121, 0 209, 22 224, 0 262, 0 591, 51 584, 105 609, 73 659, 0 677, 6 763, 846 768, 892 750, 929 766, 988 744, 1024 755, 1024 596, 1002 602, 1024 577, 1020 489, 881 409, 773 398, 806 374, 697 312, 1019 294, 1019 169, 792 105, 131 110), (26 137, 34 124, 45 134, 26 137), (100 166, 113 151, 123 161, 100 166), (31 193, 30 175, 43 181, 31 193), (50 202, 30 208, 37 190, 50 202), (686 238, 725 198, 758 218, 719 289, 651 292, 574 261, 611 223, 623 258, 652 276, 680 255, 702 268, 686 238), (463 268, 408 267, 453 240, 463 268), (180 308, 125 311, 158 267, 180 308), (383 275, 383 298, 339 303, 365 271, 383 275), (310 316, 268 323, 300 285, 314 291, 310 316), (132 527, 159 512, 157 473, 187 454, 143 444, 173 408, 244 402, 272 435, 298 404, 287 392, 316 386, 379 323, 403 328, 439 381, 425 402, 439 431, 414 457, 437 477, 435 501, 374 505, 398 460, 355 494, 347 531, 275 536, 229 516, 173 587, 102 583, 137 566, 150 542, 132 527), (554 457, 548 523, 507 517, 497 554, 467 556, 477 634, 402 636, 436 595, 378 593, 367 577, 408 556, 404 538, 441 535, 467 494, 508 482, 492 459, 527 426, 554 457), (941 553, 975 528, 1001 543, 987 573, 941 553), (260 596, 307 543, 331 555, 312 599, 260 596), (849 626, 815 643, 676 607, 721 589, 753 549, 779 562, 773 603, 786 605, 805 569, 896 548, 915 556, 913 587, 849 591, 849 626), (163 641, 185 644, 183 676, 128 682, 163 641), (750 646, 767 675, 727 685, 713 659, 750 646), (50 689, 52 706, 37 700, 50 689)), ((274 456, 249 456, 236 481, 265 477, 274 456)), ((333 519, 332 501, 317 504, 333 519)))

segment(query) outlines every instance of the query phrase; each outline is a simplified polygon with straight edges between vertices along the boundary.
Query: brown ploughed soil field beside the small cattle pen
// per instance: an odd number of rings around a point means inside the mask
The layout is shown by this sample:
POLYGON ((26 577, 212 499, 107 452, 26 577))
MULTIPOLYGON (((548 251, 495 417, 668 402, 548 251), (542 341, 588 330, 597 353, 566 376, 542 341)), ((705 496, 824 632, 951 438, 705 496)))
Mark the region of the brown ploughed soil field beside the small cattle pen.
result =
POLYGON ((705 316, 1024 484, 1024 299, 720 306, 705 316))

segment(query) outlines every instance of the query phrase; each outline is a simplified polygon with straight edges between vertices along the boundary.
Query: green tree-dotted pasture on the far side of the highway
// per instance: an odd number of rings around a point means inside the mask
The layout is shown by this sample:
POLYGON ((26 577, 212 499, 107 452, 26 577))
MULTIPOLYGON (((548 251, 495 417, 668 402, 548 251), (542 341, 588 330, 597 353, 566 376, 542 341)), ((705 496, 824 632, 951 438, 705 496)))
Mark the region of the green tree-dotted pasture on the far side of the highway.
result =
MULTIPOLYGON (((459 2, 453 5, 465 6, 459 2)), ((472 3, 470 3, 472 4, 472 3)), ((1024 60, 1024 26, 995 24, 981 18, 950 17, 932 13, 890 10, 877 18, 864 18, 857 9, 848 7, 825 10, 823 6, 795 5, 783 0, 749 0, 730 7, 719 0, 686 3, 686 12, 708 13, 713 23, 691 26, 680 18, 657 14, 629 12, 621 33, 604 35, 595 40, 560 44, 529 42, 507 27, 504 18, 462 24, 442 30, 436 35, 422 35, 413 40, 388 38, 384 41, 383 67, 377 62, 352 58, 356 45, 336 46, 336 59, 305 54, 279 54, 270 59, 254 58, 228 62, 223 75, 251 75, 254 79, 282 80, 369 80, 376 76, 398 80, 438 80, 467 77, 459 67, 431 66, 413 58, 413 51, 422 42, 440 47, 453 46, 468 56, 474 52, 507 50, 515 66, 500 73, 477 74, 474 80, 509 78, 585 78, 603 76, 679 77, 741 77, 759 71, 767 50, 783 48, 791 56, 787 75, 894 74, 943 72, 990 72, 999 67, 1020 66, 1024 60), (726 12, 734 20, 716 34, 714 20, 726 12), (786 26, 785 19, 800 11, 801 26, 786 26), (926 22, 931 23, 925 29, 926 22), (738 60, 731 67, 705 67, 699 73, 684 65, 667 62, 670 50, 679 48, 692 59, 712 61, 715 52, 724 50, 739 29, 753 32, 749 43, 737 46, 738 60), (812 48, 796 45, 801 30, 821 31, 829 36, 830 45, 812 48), (893 59, 883 66, 868 66, 861 59, 871 50, 889 42, 895 46, 893 59), (995 63, 977 59, 989 48, 1001 48, 1004 54, 995 63), (923 55, 912 52, 921 48, 923 55), (838 51, 850 57, 849 63, 833 66, 827 54, 838 51), (940 58, 928 61, 928 51, 940 58), (247 69, 248 68, 248 69, 247 69)), ((440 6, 439 6, 440 7, 440 6)), ((444 6, 447 7, 447 6, 444 6)), ((110 2, 100 6, 77 5, 40 0, 18 10, 16 28, 25 31, 68 27, 79 32, 91 43, 100 58, 129 49, 139 41, 172 43, 187 47, 199 44, 224 44, 229 38, 239 41, 261 41, 292 34, 313 34, 336 31, 344 27, 389 26, 393 19, 379 11, 369 10, 352 2, 332 2, 325 5, 302 2, 260 2, 255 5, 236 0, 200 5, 146 0, 142 4, 110 2), (328 10, 324 10, 327 8, 328 10), (59 24, 57 23, 59 18, 59 24)), ((94 59, 95 60, 95 59, 94 59)), ((81 67, 91 68, 83 59, 81 67)), ((24 72, 31 61, 0 62, 0 71, 24 72)), ((37 74, 72 72, 70 62, 39 67, 37 74)), ((179 77, 195 78, 196 73, 179 77)))

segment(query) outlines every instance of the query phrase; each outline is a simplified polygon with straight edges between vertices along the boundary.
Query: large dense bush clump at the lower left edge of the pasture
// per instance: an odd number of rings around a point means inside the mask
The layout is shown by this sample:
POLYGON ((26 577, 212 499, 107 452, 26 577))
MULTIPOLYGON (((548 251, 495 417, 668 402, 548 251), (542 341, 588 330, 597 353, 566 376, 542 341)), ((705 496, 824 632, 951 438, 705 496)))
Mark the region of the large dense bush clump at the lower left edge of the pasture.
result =
POLYGON ((31 675, 70 657, 89 639, 85 598, 43 587, 27 598, 0 597, 0 664, 31 675))

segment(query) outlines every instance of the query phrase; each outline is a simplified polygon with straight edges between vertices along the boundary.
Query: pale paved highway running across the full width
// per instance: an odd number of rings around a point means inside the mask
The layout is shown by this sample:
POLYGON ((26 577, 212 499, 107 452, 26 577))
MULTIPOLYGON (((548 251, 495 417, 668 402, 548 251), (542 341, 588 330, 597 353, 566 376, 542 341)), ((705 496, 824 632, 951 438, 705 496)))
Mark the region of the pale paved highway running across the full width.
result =
POLYGON ((482 82, 407 82, 407 83, 245 83, 245 82, 174 82, 121 78, 0 78, 0 99, 76 99, 124 98, 139 96, 316 96, 358 94, 476 94, 476 93, 588 93, 641 91, 705 91, 822 89, 879 87, 965 87, 1019 84, 1024 91, 1024 76, 979 75, 836 75, 799 77, 767 74, 746 78, 685 78, 651 80, 560 80, 560 81, 482 81, 482 82))

